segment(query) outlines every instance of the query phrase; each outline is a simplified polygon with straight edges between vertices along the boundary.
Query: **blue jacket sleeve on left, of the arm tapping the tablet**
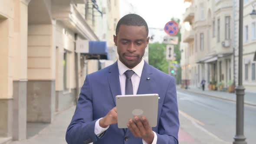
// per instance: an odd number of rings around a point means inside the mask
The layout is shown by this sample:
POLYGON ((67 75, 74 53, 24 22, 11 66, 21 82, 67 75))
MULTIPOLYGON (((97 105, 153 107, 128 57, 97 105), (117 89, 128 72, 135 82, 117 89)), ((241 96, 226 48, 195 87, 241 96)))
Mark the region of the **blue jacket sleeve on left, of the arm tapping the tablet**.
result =
POLYGON ((68 144, 89 144, 97 141, 95 135, 95 122, 93 120, 92 89, 89 75, 81 88, 75 114, 66 131, 68 144))

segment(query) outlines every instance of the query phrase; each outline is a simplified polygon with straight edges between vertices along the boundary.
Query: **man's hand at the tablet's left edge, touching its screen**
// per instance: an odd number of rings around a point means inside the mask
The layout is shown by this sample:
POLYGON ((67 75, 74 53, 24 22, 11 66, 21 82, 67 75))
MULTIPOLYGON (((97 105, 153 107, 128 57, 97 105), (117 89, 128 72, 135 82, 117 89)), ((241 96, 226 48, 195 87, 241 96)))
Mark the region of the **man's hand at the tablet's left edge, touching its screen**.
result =
POLYGON ((99 125, 102 128, 107 128, 108 125, 111 125, 111 124, 117 124, 117 109, 116 109, 116 107, 113 108, 111 111, 109 111, 108 114, 104 118, 99 120, 99 125))

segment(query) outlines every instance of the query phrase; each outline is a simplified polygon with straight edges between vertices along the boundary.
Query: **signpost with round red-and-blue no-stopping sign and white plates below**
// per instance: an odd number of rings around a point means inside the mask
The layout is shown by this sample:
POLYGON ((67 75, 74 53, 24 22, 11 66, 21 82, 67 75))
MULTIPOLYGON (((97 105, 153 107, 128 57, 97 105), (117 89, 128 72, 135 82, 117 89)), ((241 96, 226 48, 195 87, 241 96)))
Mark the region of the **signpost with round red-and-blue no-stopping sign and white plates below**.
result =
POLYGON ((164 36, 166 43, 166 59, 168 61, 168 73, 171 75, 171 60, 174 60, 174 45, 177 45, 179 38, 175 36, 179 32, 179 26, 175 21, 169 21, 164 26, 164 31, 169 36, 164 36))

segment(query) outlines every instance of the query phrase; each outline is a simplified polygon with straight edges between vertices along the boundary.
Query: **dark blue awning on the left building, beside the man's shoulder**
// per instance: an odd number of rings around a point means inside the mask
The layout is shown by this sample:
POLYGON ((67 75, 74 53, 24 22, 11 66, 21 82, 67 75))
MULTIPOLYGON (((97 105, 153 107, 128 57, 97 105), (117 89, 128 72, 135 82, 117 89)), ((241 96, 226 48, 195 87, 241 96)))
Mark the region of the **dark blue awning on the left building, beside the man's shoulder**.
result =
POLYGON ((109 59, 107 42, 90 41, 89 54, 99 56, 98 59, 109 59))

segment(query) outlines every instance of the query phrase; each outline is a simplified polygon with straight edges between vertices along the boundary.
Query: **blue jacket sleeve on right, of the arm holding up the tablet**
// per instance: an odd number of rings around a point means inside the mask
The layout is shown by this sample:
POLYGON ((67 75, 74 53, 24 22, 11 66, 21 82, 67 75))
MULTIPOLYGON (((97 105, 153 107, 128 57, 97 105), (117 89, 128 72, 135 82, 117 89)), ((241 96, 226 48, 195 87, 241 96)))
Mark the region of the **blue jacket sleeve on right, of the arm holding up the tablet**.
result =
POLYGON ((178 113, 175 79, 171 77, 160 115, 157 144, 178 144, 178 113))

